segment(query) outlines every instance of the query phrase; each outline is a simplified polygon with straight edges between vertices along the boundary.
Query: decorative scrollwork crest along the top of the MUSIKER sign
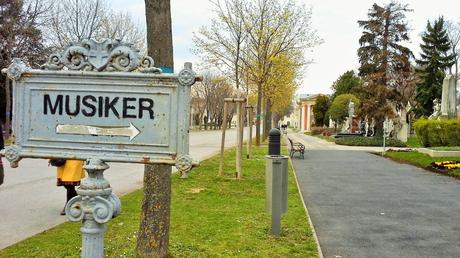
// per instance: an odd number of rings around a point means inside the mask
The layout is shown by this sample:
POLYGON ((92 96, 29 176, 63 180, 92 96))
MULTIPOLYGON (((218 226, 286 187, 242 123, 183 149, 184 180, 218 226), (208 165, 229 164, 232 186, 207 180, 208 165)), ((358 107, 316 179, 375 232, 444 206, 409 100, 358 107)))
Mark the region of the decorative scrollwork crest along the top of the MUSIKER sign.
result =
POLYGON ((102 42, 85 39, 71 43, 61 53, 52 54, 42 68, 60 70, 65 67, 69 70, 98 72, 138 70, 143 73, 161 73, 161 69, 153 64, 151 57, 142 58, 139 50, 130 43, 110 39, 102 42))

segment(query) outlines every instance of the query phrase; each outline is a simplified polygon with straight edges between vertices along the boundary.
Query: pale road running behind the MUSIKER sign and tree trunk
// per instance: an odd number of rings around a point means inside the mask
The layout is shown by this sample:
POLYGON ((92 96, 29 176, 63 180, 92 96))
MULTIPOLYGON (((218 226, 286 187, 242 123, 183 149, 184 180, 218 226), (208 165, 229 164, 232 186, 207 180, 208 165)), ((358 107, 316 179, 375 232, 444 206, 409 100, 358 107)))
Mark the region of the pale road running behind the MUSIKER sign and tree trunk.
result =
MULTIPOLYGON (((248 135, 248 128, 244 134, 248 135)), ((253 132, 255 134, 255 132, 253 132)), ((220 151, 221 131, 190 133, 190 154, 203 160, 220 151)), ((227 130, 226 145, 236 145, 236 131, 227 130)), ((66 221, 59 212, 65 189, 56 186, 56 169, 47 160, 24 159, 12 169, 3 159, 5 182, 0 186, 0 249, 66 221)), ((142 187, 142 164, 110 163, 104 173, 120 196, 142 187)), ((193 176, 193 171, 192 175, 193 176)))

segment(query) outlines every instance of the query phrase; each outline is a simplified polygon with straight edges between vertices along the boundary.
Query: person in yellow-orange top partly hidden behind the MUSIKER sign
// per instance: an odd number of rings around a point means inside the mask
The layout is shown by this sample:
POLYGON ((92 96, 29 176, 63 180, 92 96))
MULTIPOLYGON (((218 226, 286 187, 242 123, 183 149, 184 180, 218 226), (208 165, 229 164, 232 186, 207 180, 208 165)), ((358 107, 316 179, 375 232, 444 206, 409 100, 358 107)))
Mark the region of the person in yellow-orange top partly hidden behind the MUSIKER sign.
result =
MULTIPOLYGON (((77 196, 75 186, 80 185, 80 181, 85 177, 82 160, 51 160, 50 163, 57 167, 56 177, 57 186, 64 186, 67 190, 66 205, 73 197, 77 196), (60 162, 59 162, 60 161, 60 162), (53 164, 54 163, 54 164, 53 164), (56 164, 61 163, 61 164, 56 164)), ((61 211, 65 215, 65 205, 61 211)))

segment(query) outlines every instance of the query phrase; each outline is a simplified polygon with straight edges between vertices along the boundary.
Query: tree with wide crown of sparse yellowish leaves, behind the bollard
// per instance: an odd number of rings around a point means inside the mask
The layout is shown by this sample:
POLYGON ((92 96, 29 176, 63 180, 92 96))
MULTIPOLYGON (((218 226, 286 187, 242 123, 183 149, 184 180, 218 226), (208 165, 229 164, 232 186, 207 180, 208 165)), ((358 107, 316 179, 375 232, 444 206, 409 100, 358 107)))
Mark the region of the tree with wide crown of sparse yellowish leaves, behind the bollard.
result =
MULTIPOLYGON (((296 51, 303 57, 304 50, 320 43, 310 24, 311 11, 294 0, 216 0, 212 3, 217 17, 210 27, 202 28, 195 35, 196 52, 205 62, 215 64, 233 78, 237 89, 242 77, 246 87, 251 83, 256 85, 256 144, 259 145, 264 86, 273 75, 274 58, 296 51)), ((308 63, 300 59, 302 64, 308 63)), ((249 95, 248 88, 246 93, 249 95)), ((265 101, 265 104, 265 119, 269 123, 271 103, 265 101)), ((265 126, 267 132, 268 127, 265 126)))

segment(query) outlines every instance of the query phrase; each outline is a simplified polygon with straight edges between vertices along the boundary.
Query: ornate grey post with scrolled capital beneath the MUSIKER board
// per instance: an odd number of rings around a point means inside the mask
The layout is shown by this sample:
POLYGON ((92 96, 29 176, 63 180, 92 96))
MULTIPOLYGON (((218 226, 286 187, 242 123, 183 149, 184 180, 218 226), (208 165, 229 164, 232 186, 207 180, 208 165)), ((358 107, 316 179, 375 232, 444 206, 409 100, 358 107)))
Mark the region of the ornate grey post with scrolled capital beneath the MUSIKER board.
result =
POLYGON ((77 189, 78 196, 67 203, 65 211, 70 221, 83 222, 81 257, 99 258, 104 257, 105 223, 120 214, 121 202, 104 178, 109 165, 99 159, 89 159, 84 168, 88 178, 83 179, 77 189))

